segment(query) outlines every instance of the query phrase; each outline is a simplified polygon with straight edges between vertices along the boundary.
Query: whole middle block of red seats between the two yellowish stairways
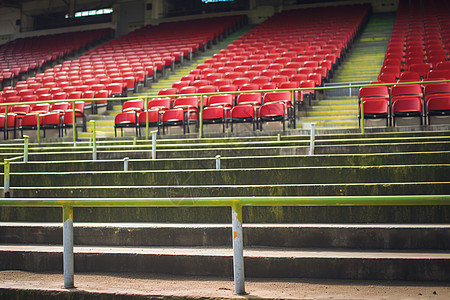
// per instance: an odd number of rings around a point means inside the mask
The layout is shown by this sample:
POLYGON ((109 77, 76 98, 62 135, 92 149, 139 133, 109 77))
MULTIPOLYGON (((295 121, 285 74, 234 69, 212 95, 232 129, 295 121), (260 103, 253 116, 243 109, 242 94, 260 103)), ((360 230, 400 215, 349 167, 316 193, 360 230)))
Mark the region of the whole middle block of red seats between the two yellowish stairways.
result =
MULTIPOLYGON (((155 104, 157 107, 155 109, 151 103, 171 101, 171 98, 150 101, 148 112, 139 110, 139 113, 134 111, 134 114, 129 112, 130 108, 125 103, 124 111, 116 117, 115 127, 145 126, 147 113, 149 118, 150 114, 153 116, 149 122, 155 126, 163 126, 163 129, 171 123, 181 124, 183 127, 190 121, 198 124, 200 98, 180 97, 182 94, 320 86, 342 58, 345 48, 367 16, 369 6, 346 6, 337 10, 342 12, 338 18, 331 13, 330 8, 308 9, 310 16, 322 13, 326 16, 323 19, 318 17, 316 21, 320 21, 315 23, 304 22, 301 21, 302 18, 298 18, 299 14, 304 14, 304 10, 283 12, 263 22, 215 54, 212 59, 199 64, 190 75, 183 76, 180 81, 173 83, 172 88, 160 90, 159 95, 162 97, 173 96, 170 108, 166 105, 161 110, 160 104, 155 104), (330 24, 333 24, 332 31, 328 31, 330 24), (325 29, 326 34, 319 34, 320 30, 324 32, 325 29), (304 33, 317 32, 317 35, 305 34, 303 37, 298 34, 299 30, 304 33), (284 40, 277 39, 279 35, 282 35, 284 40), (289 38, 286 38, 288 36, 289 38), (174 114, 178 116, 175 117, 174 114)), ((281 121, 283 129, 287 121, 294 127, 294 104, 295 101, 302 101, 303 94, 313 93, 303 91, 296 93, 294 97, 289 91, 270 92, 264 95, 257 92, 242 93, 237 96, 236 103, 232 101, 234 96, 231 95, 204 97, 203 122, 222 123, 223 130, 227 123, 233 126, 233 123, 239 122, 252 122, 254 129, 256 127, 262 129, 263 121, 281 121), (220 102, 216 101, 216 98, 227 100, 220 102)))

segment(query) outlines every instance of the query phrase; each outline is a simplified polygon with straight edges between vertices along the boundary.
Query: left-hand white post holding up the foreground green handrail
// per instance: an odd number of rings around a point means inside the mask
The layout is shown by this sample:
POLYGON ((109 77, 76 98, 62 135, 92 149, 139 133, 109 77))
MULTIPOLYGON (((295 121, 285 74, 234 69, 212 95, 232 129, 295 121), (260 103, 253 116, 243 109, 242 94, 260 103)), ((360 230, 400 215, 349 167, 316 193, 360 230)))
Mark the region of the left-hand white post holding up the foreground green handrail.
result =
POLYGON ((74 261, 73 261, 73 207, 63 206, 63 266, 64 288, 74 287, 74 261))

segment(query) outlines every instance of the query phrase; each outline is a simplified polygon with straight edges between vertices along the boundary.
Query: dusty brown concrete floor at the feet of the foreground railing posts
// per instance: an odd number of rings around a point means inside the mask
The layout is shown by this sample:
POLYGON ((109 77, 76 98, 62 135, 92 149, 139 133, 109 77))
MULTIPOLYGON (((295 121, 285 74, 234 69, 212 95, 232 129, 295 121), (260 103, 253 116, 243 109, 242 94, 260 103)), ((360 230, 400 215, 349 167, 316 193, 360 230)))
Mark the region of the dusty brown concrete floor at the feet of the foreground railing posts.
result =
POLYGON ((62 274, 0 271, 2 299, 423 299, 447 300, 444 282, 275 279, 246 277, 246 295, 234 294, 233 279, 138 273, 78 273, 75 289, 62 274))

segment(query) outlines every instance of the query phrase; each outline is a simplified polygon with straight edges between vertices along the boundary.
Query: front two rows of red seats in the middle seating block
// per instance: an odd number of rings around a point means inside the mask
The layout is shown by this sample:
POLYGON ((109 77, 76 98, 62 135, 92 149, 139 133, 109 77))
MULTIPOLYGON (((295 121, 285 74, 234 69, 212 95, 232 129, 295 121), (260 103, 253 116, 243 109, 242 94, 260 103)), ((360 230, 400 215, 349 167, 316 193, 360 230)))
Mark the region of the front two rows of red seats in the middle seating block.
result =
MULTIPOLYGON (((148 115, 149 126, 160 127, 182 126, 183 133, 189 132, 189 125, 199 124, 200 97, 185 96, 175 99, 157 98, 148 102, 148 111, 144 110, 145 102, 130 100, 123 104, 122 113, 115 117, 115 129, 135 127, 139 134, 139 127, 145 128, 148 115)), ((294 102, 289 91, 261 93, 245 93, 237 96, 231 94, 211 95, 204 97, 203 123, 221 124, 225 127, 236 123, 251 123, 253 130, 262 130, 263 122, 279 121, 283 131, 295 122, 294 102)), ((123 131, 122 131, 123 135, 123 131)))

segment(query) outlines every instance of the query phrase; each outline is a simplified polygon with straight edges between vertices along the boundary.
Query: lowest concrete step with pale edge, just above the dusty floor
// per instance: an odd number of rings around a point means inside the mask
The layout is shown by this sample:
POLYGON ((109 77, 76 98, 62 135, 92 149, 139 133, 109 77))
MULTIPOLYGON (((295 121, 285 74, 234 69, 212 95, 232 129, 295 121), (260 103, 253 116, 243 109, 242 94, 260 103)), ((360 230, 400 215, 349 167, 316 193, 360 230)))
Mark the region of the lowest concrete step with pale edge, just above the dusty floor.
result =
MULTIPOLYGON (((232 276, 231 248, 75 246, 75 272, 170 273, 232 276)), ((0 268, 61 272, 62 247, 0 245, 0 268)), ((244 249, 245 275, 358 280, 450 280, 443 251, 370 251, 297 248, 244 249)))

